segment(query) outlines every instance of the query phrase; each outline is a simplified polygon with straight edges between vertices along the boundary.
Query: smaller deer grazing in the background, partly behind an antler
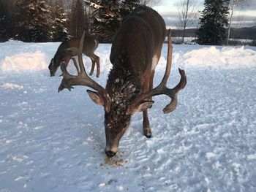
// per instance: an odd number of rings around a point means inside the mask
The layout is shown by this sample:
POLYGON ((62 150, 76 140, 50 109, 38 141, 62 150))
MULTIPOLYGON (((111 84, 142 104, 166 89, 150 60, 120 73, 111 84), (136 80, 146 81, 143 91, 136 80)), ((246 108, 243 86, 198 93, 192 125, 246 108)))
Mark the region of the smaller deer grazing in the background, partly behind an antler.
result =
MULTIPOLYGON (((61 63, 66 63, 64 66, 67 66, 70 59, 75 63, 75 58, 73 58, 75 55, 77 55, 77 52, 74 52, 71 47, 77 47, 79 45, 80 38, 72 38, 67 40, 66 42, 62 42, 61 45, 59 45, 58 50, 56 51, 56 54, 51 59, 50 64, 48 66, 48 69, 50 71, 50 76, 53 77, 58 69, 58 67, 61 65, 61 63)), ((97 74, 96 77, 99 77, 100 73, 100 66, 99 66, 99 56, 94 54, 94 51, 98 47, 98 40, 90 35, 86 34, 86 43, 83 44, 83 54, 91 58, 91 72, 90 75, 94 73, 95 63, 97 64, 97 74)))

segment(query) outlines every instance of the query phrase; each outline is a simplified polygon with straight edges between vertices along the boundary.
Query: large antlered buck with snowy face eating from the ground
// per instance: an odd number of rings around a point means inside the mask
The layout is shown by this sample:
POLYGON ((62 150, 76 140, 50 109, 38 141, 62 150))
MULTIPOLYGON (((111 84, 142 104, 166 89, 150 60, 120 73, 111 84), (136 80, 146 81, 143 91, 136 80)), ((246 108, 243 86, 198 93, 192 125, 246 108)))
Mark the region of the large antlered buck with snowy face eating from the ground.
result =
MULTIPOLYGON (((153 88, 155 68, 158 64, 162 45, 165 41, 165 21, 154 9, 139 6, 133 10, 118 29, 110 52, 110 69, 105 88, 86 74, 82 59, 84 34, 80 39, 78 51, 77 75, 61 69, 63 79, 59 91, 74 85, 83 85, 94 89, 87 90, 94 103, 105 110, 105 154, 111 158, 116 155, 121 137, 126 132, 134 112, 143 112, 143 134, 151 137, 148 109, 152 107, 153 96, 166 95, 171 101, 163 109, 165 114, 177 107, 178 92, 187 85, 187 77, 178 69, 181 79, 174 88, 167 88, 170 75, 173 47, 171 34, 168 34, 167 65, 162 81, 153 88)), ((86 39, 85 39, 86 41, 86 39)))

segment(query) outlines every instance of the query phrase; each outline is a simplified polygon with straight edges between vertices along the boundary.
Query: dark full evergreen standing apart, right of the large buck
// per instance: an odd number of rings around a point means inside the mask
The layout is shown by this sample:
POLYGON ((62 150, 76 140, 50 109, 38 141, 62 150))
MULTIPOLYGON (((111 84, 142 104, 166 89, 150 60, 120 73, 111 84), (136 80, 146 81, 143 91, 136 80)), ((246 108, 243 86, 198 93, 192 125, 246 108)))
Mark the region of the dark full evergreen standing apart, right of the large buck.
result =
POLYGON ((227 39, 230 0, 205 0, 197 31, 200 45, 223 45, 227 39))

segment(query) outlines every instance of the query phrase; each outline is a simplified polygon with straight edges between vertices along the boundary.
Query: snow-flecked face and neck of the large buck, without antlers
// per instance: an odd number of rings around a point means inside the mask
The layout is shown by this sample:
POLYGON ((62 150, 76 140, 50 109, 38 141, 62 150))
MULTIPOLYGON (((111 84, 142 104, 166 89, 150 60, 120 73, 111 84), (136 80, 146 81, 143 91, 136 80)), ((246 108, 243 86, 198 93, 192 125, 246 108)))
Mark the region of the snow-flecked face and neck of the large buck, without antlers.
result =
POLYGON ((108 156, 116 154, 119 141, 129 126, 132 116, 129 104, 141 92, 140 85, 135 82, 139 81, 134 80, 129 69, 118 68, 110 72, 106 87, 110 104, 105 106, 105 152, 108 156))

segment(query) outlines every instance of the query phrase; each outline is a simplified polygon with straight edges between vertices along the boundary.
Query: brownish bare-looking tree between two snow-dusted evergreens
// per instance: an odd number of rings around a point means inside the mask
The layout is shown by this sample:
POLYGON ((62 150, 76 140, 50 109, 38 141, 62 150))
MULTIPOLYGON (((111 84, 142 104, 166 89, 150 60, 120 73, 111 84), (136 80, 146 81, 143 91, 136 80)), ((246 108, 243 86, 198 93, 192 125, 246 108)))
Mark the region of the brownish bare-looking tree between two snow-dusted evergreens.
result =
POLYGON ((80 37, 83 31, 89 33, 89 11, 84 6, 83 1, 76 0, 73 2, 71 11, 69 12, 69 34, 72 37, 80 37))

